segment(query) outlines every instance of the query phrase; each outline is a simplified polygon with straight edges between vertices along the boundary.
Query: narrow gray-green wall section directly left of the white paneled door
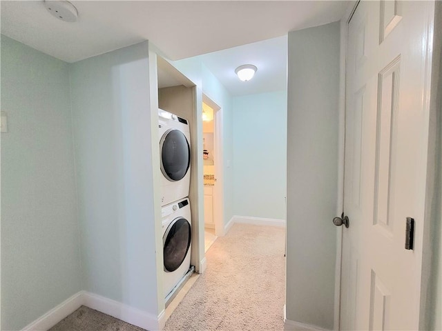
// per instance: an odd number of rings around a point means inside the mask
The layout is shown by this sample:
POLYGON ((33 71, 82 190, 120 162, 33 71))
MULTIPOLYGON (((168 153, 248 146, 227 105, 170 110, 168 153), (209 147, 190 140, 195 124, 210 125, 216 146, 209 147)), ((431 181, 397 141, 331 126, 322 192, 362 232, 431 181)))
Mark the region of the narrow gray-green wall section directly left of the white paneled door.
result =
POLYGON ((339 23, 289 32, 287 319, 334 326, 339 23))

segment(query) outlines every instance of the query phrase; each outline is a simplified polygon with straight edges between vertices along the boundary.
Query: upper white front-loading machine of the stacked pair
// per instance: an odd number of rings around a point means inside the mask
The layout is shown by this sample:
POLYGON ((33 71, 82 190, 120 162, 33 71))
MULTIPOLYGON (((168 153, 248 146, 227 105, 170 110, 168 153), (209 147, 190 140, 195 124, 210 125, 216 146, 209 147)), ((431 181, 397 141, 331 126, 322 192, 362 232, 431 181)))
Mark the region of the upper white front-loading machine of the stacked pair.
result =
POLYGON ((191 143, 189 122, 171 112, 158 110, 161 205, 189 196, 191 183, 191 143))

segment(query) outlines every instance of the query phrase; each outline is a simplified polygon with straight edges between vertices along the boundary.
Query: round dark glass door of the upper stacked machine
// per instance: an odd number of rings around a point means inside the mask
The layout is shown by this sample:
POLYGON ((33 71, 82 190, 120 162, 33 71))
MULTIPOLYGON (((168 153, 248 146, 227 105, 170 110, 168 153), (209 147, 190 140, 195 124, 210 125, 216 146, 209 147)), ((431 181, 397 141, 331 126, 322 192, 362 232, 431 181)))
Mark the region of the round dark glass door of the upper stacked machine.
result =
POLYGON ((169 181, 184 178, 191 164, 189 142, 180 130, 170 129, 164 132, 160 141, 161 171, 169 181))

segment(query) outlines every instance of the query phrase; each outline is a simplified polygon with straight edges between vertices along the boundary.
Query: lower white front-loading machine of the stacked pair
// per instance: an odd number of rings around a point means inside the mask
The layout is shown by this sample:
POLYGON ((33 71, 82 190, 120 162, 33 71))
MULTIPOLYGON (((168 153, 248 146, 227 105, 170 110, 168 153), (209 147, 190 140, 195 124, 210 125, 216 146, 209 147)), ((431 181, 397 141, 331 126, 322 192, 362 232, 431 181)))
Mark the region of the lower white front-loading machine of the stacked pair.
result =
POLYGON ((164 298, 173 294, 191 267, 191 206, 182 199, 162 210, 164 298))

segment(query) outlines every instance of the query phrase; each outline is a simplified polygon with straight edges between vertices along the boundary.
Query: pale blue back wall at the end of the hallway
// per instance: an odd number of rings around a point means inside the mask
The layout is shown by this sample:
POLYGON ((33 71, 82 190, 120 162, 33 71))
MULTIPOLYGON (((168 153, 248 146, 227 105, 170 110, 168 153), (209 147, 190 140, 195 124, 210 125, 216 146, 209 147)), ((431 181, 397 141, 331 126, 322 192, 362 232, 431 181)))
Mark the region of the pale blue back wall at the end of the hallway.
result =
POLYGON ((233 214, 285 219, 287 92, 233 97, 233 214))

